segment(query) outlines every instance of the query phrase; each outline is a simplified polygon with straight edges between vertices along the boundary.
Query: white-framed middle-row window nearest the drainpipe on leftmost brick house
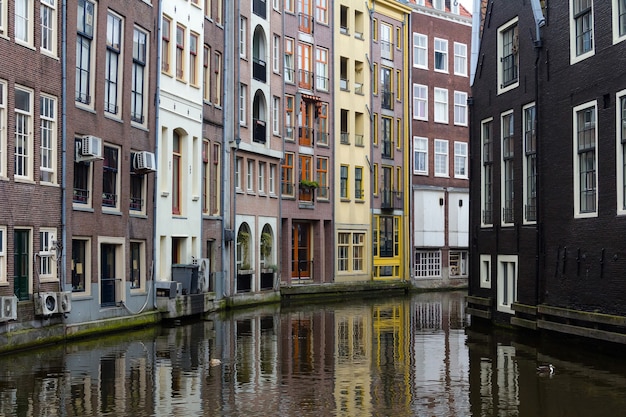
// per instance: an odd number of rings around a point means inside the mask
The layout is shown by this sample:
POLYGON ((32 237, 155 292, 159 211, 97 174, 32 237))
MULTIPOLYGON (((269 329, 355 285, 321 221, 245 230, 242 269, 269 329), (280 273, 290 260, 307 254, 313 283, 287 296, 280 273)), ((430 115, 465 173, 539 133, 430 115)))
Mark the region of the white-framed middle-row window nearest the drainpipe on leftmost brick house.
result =
POLYGON ((39 98, 40 163, 39 180, 56 183, 57 120, 56 98, 42 95, 39 98))

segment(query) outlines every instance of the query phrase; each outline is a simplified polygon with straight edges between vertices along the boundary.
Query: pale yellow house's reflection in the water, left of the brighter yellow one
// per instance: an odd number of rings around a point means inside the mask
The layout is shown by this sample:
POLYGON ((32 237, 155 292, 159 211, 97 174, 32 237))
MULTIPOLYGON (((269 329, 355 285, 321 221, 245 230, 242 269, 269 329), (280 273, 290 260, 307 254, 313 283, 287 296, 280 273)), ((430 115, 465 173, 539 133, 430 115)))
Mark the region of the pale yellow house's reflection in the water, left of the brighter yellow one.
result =
POLYGON ((338 310, 335 315, 335 407, 341 416, 371 415, 372 358, 369 310, 338 310))

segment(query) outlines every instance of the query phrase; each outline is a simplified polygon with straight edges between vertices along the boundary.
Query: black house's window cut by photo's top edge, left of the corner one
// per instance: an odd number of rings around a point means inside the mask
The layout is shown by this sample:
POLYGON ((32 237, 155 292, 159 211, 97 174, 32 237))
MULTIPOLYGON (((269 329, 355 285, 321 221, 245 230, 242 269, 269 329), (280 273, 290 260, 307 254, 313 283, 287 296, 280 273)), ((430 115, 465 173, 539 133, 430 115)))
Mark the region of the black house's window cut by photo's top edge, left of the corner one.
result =
POLYGON ((570 0, 570 38, 575 63, 593 55, 593 0, 570 0))

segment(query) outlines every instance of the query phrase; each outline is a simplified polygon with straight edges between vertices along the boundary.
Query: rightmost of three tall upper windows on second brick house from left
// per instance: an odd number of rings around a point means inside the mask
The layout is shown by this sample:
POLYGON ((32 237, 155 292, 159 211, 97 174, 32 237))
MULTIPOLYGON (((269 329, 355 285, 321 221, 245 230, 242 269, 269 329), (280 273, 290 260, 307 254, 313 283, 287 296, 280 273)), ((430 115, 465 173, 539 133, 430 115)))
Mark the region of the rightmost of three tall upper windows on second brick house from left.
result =
POLYGON ((144 124, 146 106, 146 51, 148 36, 145 32, 135 28, 133 30, 133 79, 130 92, 130 119, 133 122, 144 124))

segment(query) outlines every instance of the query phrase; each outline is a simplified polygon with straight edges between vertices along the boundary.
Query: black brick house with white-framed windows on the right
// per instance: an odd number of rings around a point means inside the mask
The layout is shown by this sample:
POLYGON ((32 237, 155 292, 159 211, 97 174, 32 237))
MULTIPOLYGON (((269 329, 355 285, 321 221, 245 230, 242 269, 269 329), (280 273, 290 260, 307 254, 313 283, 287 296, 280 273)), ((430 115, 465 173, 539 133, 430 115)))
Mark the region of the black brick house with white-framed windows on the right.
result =
POLYGON ((484 6, 470 312, 624 342, 624 4, 484 6))

